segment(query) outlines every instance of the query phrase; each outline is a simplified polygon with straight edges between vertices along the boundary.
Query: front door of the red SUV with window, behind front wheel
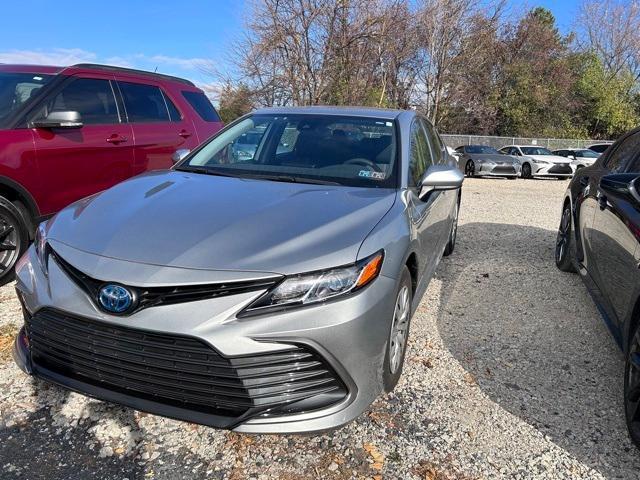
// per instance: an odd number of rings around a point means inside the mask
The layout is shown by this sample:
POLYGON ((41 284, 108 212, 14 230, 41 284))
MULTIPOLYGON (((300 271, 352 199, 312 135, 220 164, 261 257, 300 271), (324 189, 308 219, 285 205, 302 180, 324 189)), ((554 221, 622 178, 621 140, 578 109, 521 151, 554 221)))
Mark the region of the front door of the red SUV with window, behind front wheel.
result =
POLYGON ((133 137, 121 122, 108 76, 74 76, 51 92, 27 118, 27 125, 51 112, 76 111, 82 127, 32 128, 39 197, 47 212, 109 188, 133 175, 133 137))

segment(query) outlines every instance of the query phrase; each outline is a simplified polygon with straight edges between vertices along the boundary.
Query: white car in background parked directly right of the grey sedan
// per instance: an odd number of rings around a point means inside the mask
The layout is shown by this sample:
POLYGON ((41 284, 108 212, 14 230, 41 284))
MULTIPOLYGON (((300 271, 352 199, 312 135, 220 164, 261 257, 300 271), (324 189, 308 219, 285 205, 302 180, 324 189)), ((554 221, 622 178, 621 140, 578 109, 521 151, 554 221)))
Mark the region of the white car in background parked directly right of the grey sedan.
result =
POLYGON ((520 159, 522 178, 569 178, 573 175, 571 160, 554 155, 548 148, 538 145, 507 145, 500 149, 500 153, 520 159))

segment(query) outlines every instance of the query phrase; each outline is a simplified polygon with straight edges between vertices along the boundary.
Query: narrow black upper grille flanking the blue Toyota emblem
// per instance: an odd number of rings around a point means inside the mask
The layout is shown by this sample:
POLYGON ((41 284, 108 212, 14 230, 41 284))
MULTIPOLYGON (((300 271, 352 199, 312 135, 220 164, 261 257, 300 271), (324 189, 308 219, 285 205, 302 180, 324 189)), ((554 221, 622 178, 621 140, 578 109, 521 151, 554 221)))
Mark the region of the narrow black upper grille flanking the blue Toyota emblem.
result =
MULTIPOLYGON (((100 288, 109 283, 106 280, 98 280, 81 272, 73 265, 64 260, 53 249, 49 247, 48 252, 60 265, 62 270, 88 295, 94 300, 98 297, 100 288)), ((155 307, 159 305, 171 305, 174 303, 194 302, 197 300, 207 300, 211 298, 225 297, 228 295, 237 295, 240 293, 256 292, 267 290, 273 287, 279 278, 263 278, 259 280, 236 281, 226 283, 214 283, 206 285, 183 285, 172 287, 132 287, 126 286, 132 292, 135 292, 135 303, 132 307, 123 312, 125 315, 131 315, 143 308, 155 307)), ((99 302, 95 304, 102 308, 99 302)), ((114 315, 113 312, 108 312, 114 315)))

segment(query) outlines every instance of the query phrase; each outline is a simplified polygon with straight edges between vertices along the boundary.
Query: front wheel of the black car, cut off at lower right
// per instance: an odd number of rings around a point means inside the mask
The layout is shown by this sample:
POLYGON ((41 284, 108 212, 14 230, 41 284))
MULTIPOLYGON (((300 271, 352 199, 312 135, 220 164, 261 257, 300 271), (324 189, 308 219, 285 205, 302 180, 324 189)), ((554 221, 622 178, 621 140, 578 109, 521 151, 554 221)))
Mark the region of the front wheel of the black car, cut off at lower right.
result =
POLYGON ((631 440, 640 448, 640 322, 630 332, 624 362, 624 416, 631 440))

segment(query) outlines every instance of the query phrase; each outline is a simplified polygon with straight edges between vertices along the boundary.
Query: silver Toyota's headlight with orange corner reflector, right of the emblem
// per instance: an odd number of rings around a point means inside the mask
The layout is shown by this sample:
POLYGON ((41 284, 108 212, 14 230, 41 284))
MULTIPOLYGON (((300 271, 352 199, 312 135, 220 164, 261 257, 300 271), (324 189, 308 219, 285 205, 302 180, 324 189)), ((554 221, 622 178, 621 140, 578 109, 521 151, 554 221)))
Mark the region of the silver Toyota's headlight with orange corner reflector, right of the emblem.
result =
POLYGON ((286 277, 240 316, 323 302, 355 292, 373 282, 382 269, 380 251, 353 265, 286 277))

